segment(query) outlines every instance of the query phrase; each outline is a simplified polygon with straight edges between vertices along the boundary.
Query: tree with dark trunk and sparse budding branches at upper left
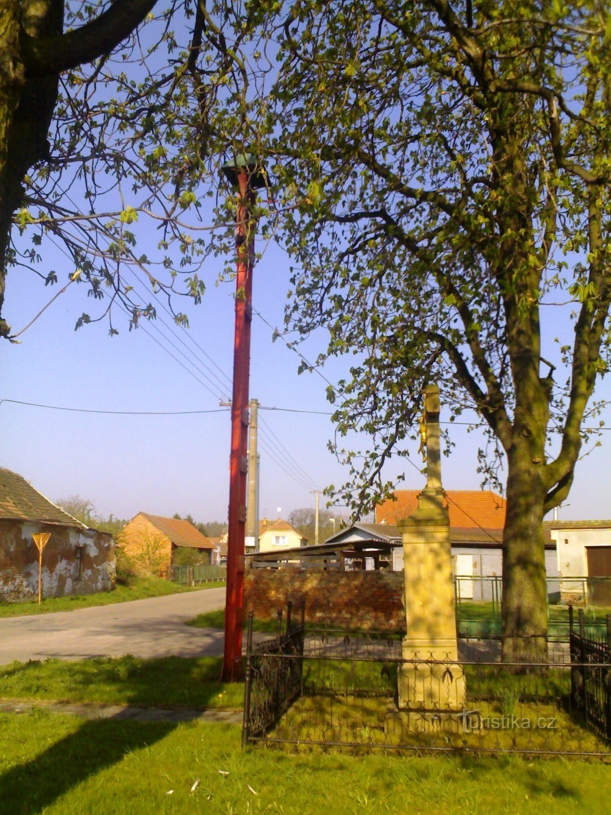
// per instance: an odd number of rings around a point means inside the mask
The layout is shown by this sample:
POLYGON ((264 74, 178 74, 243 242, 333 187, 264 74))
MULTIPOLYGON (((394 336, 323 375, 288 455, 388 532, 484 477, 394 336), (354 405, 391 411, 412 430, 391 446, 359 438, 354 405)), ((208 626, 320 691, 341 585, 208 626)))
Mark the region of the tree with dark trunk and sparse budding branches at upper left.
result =
MULTIPOLYGON (((224 153, 243 149, 234 135, 248 86, 237 50, 251 15, 239 4, 209 6, 3 5, 0 338, 23 333, 11 333, 3 317, 11 267, 34 271, 46 285, 64 275, 60 293, 84 284, 99 310, 84 312, 77 328, 108 319, 117 333, 117 311, 134 328, 156 316, 155 301, 187 324, 170 295, 199 302, 204 291, 198 271, 210 251, 203 237, 210 226, 202 221, 212 220, 213 205, 202 208, 202 200, 217 192, 224 153), (222 117, 223 127, 212 128, 225 105, 237 111, 234 120, 222 117), (137 251, 140 239, 146 253, 137 251), (69 258, 63 272, 49 268, 51 242, 69 258)), ((230 196, 227 221, 232 206, 230 196)))

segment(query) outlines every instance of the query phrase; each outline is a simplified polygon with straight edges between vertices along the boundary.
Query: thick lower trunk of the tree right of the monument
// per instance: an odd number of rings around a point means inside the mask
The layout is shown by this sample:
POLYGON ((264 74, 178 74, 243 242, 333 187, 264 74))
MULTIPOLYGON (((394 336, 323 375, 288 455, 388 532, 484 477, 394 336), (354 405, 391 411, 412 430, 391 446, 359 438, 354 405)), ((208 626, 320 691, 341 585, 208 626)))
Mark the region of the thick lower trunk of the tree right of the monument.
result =
POLYGON ((544 498, 540 463, 527 441, 514 444, 503 531, 503 662, 547 662, 544 498))

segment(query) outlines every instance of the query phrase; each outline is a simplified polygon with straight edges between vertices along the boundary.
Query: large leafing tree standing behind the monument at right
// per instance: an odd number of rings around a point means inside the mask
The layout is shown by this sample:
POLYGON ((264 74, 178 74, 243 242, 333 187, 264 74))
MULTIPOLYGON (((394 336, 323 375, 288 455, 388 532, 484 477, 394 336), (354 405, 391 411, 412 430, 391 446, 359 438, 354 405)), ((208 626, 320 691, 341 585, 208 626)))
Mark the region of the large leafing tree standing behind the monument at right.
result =
MULTIPOLYGON (((356 355, 328 394, 339 434, 374 447, 343 451, 342 494, 367 509, 388 493, 382 466, 406 455, 427 382, 454 416, 477 411, 507 467, 503 659, 544 659, 543 515, 569 493, 609 362, 608 9, 361 0, 283 15, 253 119, 296 259, 288 325, 328 328, 319 364, 356 355)), ((481 469, 500 477, 486 452, 481 469)))

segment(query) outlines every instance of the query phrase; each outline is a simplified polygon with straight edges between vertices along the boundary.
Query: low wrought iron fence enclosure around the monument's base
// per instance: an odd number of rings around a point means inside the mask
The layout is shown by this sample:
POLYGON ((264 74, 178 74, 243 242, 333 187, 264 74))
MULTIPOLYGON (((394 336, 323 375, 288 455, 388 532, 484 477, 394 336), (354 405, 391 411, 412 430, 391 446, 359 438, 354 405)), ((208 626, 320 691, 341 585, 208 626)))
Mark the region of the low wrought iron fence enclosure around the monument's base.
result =
POLYGON ((461 641, 457 654, 407 652, 384 632, 287 632, 248 645, 244 745, 611 760, 600 726, 609 654, 592 665, 569 658, 567 645, 546 663, 508 664, 495 641, 461 641))

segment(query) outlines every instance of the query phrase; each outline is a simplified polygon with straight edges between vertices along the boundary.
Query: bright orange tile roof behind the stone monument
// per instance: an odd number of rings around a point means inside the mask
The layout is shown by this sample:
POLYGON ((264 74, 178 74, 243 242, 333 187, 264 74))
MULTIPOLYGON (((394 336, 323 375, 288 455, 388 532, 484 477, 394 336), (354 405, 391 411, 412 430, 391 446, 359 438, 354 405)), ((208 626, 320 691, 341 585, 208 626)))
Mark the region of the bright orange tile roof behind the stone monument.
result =
MULTIPOLYGON (((376 523, 395 524, 418 509, 420 490, 397 490, 397 500, 385 500, 376 507, 376 523)), ((489 490, 448 490, 450 526, 461 530, 502 530, 505 526, 505 499, 489 490)))

